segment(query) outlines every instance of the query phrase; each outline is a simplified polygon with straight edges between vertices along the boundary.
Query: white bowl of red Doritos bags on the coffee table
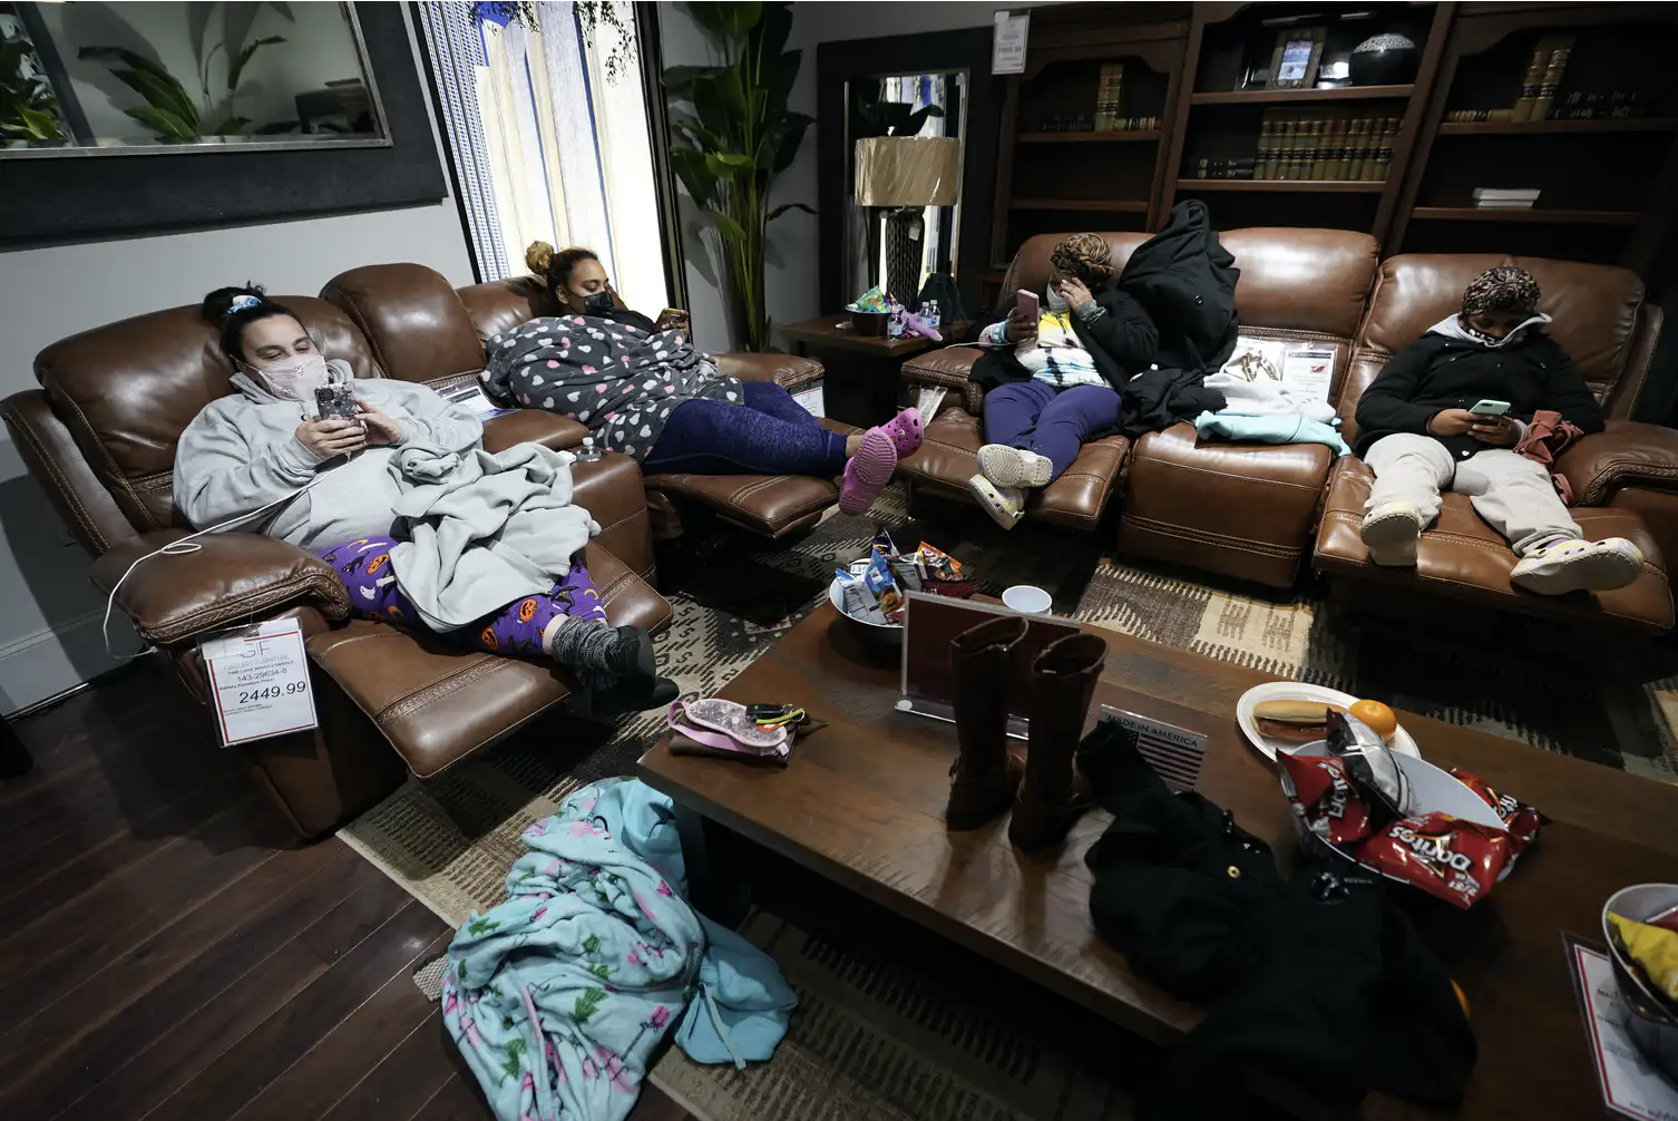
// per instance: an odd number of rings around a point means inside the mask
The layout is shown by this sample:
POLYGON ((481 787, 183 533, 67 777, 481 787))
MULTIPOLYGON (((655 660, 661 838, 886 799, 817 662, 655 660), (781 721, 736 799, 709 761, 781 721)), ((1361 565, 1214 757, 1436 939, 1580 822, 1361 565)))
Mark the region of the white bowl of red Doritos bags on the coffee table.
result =
POLYGON ((1399 755, 1364 722, 1327 715, 1327 738, 1277 752, 1305 849, 1468 910, 1515 866, 1544 816, 1465 770, 1399 755))

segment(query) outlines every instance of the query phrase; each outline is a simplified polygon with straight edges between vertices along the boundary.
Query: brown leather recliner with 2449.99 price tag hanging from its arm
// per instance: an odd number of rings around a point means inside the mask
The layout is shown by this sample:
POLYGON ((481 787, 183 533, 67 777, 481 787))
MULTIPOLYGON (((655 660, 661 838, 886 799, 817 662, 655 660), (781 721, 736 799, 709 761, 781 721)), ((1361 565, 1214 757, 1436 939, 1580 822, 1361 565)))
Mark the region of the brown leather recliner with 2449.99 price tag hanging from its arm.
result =
MULTIPOLYGON (((299 314, 327 357, 344 359, 357 378, 386 374, 384 357, 337 307, 277 299, 299 314)), ((42 388, 0 403, 30 472, 97 557, 92 577, 101 589, 138 557, 191 530, 173 502, 175 446, 200 409, 228 393, 230 374, 198 309, 176 307, 49 346, 35 359, 42 388)), ((490 421, 485 443, 519 443, 525 425, 520 416, 490 421)), ((638 576, 653 571, 639 468, 607 455, 579 465, 576 480, 577 503, 611 527, 584 552, 607 616, 661 629, 670 604, 638 576)), ((320 727, 240 750, 305 837, 366 811, 408 772, 426 779, 495 743, 574 690, 550 665, 463 651, 383 623, 346 623, 349 599, 337 572, 284 540, 252 532, 198 540, 198 552, 153 557, 134 569, 117 604, 200 700, 206 698, 200 638, 282 616, 302 623, 320 727)))

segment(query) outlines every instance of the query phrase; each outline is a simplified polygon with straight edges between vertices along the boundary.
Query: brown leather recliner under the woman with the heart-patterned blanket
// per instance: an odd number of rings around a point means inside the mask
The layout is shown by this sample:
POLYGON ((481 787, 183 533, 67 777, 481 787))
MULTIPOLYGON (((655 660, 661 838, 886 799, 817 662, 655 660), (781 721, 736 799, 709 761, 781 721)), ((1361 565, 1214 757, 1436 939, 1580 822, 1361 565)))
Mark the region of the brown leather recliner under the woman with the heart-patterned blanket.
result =
MULTIPOLYGON (((552 295, 535 277, 451 289, 425 265, 366 265, 327 282, 320 295, 366 332, 393 378, 433 388, 475 379, 483 342, 539 315, 554 315, 552 295)), ((822 376, 821 362, 789 354, 722 354, 717 366, 742 381, 775 381, 789 391, 822 376)), ((520 425, 550 448, 574 448, 587 430, 577 421, 524 409, 520 425)), ((507 418, 513 420, 513 418, 507 418)), ((824 421, 834 431, 854 431, 824 421)), ((837 503, 834 480, 809 475, 648 475, 646 502, 659 539, 683 532, 683 514, 700 507, 752 534, 780 539, 821 520, 837 503)), ((604 525, 604 522, 602 522, 604 525)))

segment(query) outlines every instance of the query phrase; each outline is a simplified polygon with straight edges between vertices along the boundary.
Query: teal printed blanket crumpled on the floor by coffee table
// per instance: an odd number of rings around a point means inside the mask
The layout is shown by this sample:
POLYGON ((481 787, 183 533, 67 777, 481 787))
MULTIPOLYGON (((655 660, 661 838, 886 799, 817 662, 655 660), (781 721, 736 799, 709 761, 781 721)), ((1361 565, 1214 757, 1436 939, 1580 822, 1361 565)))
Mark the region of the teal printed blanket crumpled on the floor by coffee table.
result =
POLYGON ((683 899, 668 799, 597 782, 524 842, 507 903, 460 928, 443 977, 443 1020, 500 1121, 621 1121, 683 1010, 695 1059, 770 1056, 792 990, 683 899))

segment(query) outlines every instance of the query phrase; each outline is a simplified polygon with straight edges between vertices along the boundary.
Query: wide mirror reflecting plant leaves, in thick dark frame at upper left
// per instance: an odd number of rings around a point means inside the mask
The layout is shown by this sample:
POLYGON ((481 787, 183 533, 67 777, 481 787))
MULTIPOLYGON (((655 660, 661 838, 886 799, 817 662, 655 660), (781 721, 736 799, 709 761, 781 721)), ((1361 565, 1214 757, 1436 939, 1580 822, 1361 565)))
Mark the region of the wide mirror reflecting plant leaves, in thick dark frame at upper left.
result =
POLYGON ((389 143, 347 3, 0 3, 0 159, 389 143))

